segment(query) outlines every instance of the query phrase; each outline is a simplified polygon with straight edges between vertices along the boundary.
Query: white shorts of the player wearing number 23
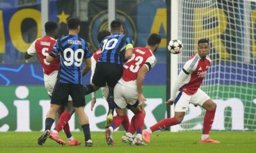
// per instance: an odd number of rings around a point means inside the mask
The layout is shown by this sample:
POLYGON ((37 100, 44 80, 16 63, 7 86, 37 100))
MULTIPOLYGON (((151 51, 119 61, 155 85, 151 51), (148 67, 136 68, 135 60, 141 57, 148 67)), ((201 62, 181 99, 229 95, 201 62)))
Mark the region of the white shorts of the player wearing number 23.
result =
POLYGON ((114 101, 120 108, 126 108, 128 104, 134 105, 138 101, 138 91, 134 81, 125 84, 118 81, 114 88, 114 101))

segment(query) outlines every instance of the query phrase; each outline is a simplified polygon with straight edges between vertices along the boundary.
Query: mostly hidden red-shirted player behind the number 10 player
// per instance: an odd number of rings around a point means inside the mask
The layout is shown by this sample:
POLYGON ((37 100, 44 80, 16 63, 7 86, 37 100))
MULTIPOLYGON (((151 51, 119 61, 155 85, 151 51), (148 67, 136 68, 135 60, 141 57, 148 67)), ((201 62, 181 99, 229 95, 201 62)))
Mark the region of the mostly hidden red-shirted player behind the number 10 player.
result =
MULTIPOLYGON (((109 31, 100 31, 97 34, 97 40, 99 41, 99 43, 106 37, 109 36, 111 33, 109 31)), ((100 53, 101 53, 101 49, 99 48, 91 57, 91 61, 92 61, 92 75, 91 75, 91 83, 92 83, 92 78, 93 78, 93 74, 96 68, 96 62, 98 61, 99 57, 100 57, 100 53)), ((102 91, 102 95, 104 97, 104 99, 107 100, 108 98, 108 85, 106 85, 105 87, 101 87, 101 91, 102 91)), ((96 103, 96 97, 95 97, 95 92, 92 92, 92 102, 91 102, 91 110, 93 109, 93 106, 96 103)), ((124 115, 124 120, 122 123, 122 126, 124 127, 125 131, 128 130, 130 122, 129 122, 129 118, 127 115, 124 115)), ((107 133, 108 133, 108 127, 109 127, 110 122, 108 123, 108 120, 106 120, 106 124, 105 124, 105 133, 106 133, 106 137, 107 137, 107 133)), ((107 138, 106 138, 107 139, 107 138)))

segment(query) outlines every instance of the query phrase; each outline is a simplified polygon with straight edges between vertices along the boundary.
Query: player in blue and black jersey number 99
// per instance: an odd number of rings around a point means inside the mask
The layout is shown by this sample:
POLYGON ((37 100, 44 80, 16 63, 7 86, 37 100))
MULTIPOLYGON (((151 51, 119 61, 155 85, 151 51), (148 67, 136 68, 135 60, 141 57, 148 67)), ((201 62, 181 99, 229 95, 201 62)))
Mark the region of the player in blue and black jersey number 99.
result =
POLYGON ((82 63, 91 64, 88 44, 77 36, 80 31, 80 20, 70 18, 68 20, 68 35, 56 42, 51 54, 46 58, 47 62, 61 55, 60 70, 54 91, 52 92, 51 108, 45 119, 45 132, 38 138, 43 141, 49 137, 52 123, 56 118, 56 112, 60 105, 65 103, 68 95, 73 99, 73 105, 79 117, 84 132, 85 146, 92 147, 89 119, 84 112, 85 100, 82 81, 82 63))

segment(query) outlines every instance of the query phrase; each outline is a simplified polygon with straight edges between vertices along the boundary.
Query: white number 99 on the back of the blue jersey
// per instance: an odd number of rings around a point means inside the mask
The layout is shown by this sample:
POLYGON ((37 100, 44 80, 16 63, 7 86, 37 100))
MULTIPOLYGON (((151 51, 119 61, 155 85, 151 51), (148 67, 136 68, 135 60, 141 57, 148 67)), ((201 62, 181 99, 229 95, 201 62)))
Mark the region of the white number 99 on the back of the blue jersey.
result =
POLYGON ((83 57, 84 57, 84 50, 79 48, 75 51, 72 50, 71 48, 66 48, 63 52, 63 57, 65 59, 65 61, 63 62, 66 66, 71 66, 74 62, 74 64, 79 67, 81 66, 82 62, 83 62, 83 57), (81 53, 81 56, 78 57, 78 54, 81 53), (68 55, 69 54, 69 57, 68 55))

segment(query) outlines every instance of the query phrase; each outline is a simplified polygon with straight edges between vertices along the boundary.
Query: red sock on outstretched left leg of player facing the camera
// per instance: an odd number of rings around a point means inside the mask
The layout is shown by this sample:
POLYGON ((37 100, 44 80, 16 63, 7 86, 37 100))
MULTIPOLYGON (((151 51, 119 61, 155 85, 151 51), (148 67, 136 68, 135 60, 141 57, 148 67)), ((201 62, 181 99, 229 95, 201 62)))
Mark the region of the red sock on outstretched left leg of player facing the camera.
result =
POLYGON ((160 122, 157 122, 156 124, 154 124, 154 126, 151 126, 150 129, 152 132, 154 132, 154 131, 157 131, 158 129, 164 129, 170 126, 174 126, 176 124, 179 124, 178 120, 172 117, 172 118, 163 119, 160 122))

